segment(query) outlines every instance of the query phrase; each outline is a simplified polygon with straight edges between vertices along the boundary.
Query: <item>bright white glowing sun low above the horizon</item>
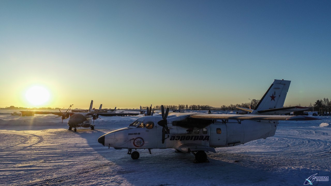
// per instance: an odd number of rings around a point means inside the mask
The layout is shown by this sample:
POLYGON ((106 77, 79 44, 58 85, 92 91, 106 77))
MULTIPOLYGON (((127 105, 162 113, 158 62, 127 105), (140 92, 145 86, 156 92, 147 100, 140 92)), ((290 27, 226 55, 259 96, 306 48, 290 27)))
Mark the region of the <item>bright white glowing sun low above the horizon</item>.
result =
POLYGON ((33 86, 25 93, 26 100, 33 105, 41 105, 48 101, 49 92, 40 86, 33 86))

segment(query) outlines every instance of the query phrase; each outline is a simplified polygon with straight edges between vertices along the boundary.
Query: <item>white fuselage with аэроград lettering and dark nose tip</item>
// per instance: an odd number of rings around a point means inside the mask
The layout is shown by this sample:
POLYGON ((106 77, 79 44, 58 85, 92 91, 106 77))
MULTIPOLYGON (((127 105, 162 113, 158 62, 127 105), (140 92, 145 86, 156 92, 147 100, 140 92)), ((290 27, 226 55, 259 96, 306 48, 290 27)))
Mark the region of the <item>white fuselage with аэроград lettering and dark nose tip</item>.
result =
POLYGON ((252 120, 216 120, 204 128, 187 128, 176 126, 178 117, 168 119, 170 134, 165 134, 163 127, 158 125, 161 116, 144 116, 138 118, 130 126, 121 128, 104 135, 104 145, 116 149, 164 149, 174 148, 181 152, 194 151, 195 146, 201 145, 206 151, 215 152, 216 147, 229 147, 247 143, 252 140, 266 138, 275 134, 276 121, 252 120), (153 125, 153 126, 152 126, 153 125))

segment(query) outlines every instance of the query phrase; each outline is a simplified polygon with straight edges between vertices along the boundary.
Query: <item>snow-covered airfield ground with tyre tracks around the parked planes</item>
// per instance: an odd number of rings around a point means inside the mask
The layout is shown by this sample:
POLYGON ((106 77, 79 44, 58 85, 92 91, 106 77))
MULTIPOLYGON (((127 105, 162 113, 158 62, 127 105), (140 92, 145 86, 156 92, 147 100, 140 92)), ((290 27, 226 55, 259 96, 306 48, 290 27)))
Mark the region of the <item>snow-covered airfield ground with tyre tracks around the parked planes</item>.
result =
POLYGON ((174 149, 138 150, 140 158, 132 160, 127 150, 97 142, 138 116, 101 117, 95 130, 74 132, 55 115, 0 112, 0 185, 304 185, 316 173, 331 177, 329 116, 280 121, 273 137, 216 148, 207 153, 210 163, 193 163, 192 154, 174 149))

